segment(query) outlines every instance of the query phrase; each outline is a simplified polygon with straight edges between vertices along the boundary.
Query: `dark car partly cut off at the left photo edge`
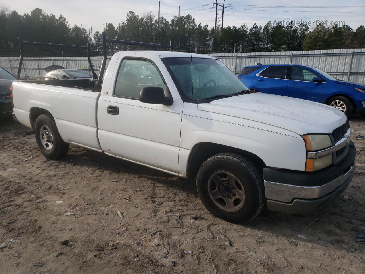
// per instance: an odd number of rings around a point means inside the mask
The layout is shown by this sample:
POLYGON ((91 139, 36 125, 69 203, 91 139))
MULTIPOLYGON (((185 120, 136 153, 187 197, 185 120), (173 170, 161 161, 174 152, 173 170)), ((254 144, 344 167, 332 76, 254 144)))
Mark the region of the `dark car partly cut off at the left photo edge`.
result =
POLYGON ((0 117, 13 110, 10 101, 10 87, 13 81, 16 81, 16 78, 0 67, 0 117))

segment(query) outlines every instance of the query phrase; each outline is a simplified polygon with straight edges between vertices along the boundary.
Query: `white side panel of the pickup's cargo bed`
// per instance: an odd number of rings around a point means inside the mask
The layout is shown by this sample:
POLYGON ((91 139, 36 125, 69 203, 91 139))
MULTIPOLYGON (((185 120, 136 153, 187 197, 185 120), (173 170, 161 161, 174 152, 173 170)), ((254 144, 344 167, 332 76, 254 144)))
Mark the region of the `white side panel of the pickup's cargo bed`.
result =
MULTIPOLYGON (((96 107, 100 92, 85 88, 49 85, 79 80, 13 82, 14 114, 32 128, 31 117, 37 108, 49 111, 65 142, 101 151, 97 140, 96 107), (45 84, 47 82, 47 84, 45 84)), ((85 80, 81 80, 81 83, 85 80)), ((77 82, 74 82, 77 84, 77 82)))

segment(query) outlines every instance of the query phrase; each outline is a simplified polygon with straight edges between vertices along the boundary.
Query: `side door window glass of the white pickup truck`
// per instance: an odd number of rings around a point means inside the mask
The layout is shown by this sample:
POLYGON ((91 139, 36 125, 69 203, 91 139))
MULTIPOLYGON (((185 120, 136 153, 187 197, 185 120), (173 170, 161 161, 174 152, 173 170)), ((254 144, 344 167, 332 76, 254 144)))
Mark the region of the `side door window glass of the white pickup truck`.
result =
POLYGON ((139 99, 139 92, 144 87, 161 87, 165 89, 165 82, 157 67, 147 60, 123 59, 113 95, 139 99), (151 77, 149 77, 150 75, 151 77))

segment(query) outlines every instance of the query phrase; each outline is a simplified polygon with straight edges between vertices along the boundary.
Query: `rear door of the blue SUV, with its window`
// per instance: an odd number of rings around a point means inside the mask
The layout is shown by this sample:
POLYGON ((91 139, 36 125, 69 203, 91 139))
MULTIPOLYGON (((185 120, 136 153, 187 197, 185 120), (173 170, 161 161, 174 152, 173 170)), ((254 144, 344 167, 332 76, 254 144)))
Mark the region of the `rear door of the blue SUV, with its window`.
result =
POLYGON ((288 80, 286 79, 288 66, 269 66, 254 77, 254 84, 258 92, 276 95, 287 95, 288 80))

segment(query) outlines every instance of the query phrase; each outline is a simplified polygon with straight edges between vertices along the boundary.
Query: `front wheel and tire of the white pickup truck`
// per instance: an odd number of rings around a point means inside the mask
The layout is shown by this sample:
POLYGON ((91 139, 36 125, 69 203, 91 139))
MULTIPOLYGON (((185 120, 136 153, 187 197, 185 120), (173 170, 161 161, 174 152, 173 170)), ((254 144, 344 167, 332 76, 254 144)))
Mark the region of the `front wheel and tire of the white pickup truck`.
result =
POLYGON ((265 205, 262 172, 238 154, 220 153, 210 157, 201 165, 196 184, 205 208, 226 221, 249 222, 265 205))

